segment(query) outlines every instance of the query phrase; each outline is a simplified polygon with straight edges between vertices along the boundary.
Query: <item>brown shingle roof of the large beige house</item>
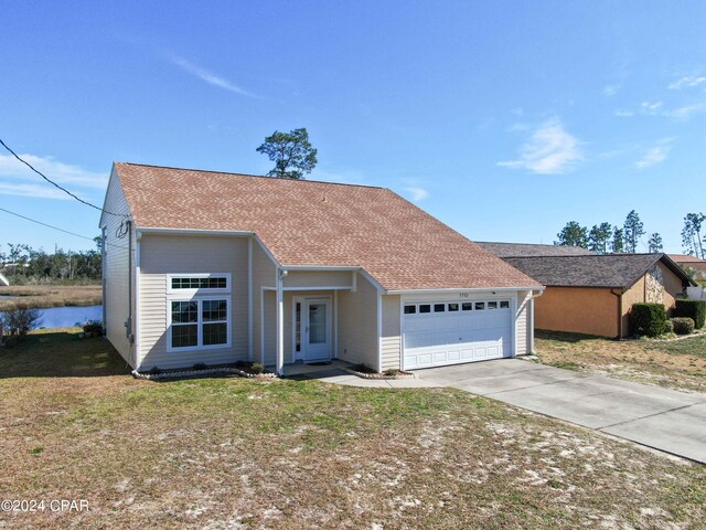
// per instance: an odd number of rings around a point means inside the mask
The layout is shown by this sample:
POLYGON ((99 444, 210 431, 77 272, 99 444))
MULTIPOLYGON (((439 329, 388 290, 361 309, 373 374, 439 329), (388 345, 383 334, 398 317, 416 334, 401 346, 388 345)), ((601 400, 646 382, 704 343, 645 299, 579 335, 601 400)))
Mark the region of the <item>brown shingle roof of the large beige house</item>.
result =
POLYGON ((116 162, 138 227, 254 232, 281 265, 361 266, 387 290, 539 287, 385 188, 116 162))

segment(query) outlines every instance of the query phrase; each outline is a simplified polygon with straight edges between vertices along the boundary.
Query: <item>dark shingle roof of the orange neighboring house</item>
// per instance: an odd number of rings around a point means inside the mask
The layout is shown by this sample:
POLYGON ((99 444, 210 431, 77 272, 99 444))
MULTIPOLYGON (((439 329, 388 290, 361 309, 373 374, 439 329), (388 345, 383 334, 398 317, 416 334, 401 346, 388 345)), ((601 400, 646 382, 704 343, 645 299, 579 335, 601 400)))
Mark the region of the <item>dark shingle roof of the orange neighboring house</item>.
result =
POLYGON ((587 256, 506 257, 537 282, 554 287, 625 289, 662 262, 684 283, 694 282, 666 254, 592 254, 587 256))

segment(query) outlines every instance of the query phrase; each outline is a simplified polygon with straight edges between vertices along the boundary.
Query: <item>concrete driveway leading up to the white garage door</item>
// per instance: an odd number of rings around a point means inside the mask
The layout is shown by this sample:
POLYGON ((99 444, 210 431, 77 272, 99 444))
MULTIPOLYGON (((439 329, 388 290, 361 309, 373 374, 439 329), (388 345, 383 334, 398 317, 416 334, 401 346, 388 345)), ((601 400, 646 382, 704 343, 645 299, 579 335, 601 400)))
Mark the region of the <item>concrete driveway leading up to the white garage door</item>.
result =
POLYGON ((678 392, 520 359, 417 370, 485 395, 706 464, 706 394, 678 392))

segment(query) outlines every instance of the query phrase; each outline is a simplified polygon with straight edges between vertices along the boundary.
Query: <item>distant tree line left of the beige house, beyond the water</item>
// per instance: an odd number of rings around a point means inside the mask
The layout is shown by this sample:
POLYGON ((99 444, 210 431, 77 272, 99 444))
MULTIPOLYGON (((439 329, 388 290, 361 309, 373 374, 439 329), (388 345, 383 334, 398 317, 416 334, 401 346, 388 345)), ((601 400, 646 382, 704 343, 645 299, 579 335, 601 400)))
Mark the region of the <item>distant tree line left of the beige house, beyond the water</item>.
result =
POLYGON ((96 250, 72 252, 56 248, 49 254, 23 243, 8 243, 0 248, 0 272, 13 284, 100 280, 103 274, 101 239, 96 250))

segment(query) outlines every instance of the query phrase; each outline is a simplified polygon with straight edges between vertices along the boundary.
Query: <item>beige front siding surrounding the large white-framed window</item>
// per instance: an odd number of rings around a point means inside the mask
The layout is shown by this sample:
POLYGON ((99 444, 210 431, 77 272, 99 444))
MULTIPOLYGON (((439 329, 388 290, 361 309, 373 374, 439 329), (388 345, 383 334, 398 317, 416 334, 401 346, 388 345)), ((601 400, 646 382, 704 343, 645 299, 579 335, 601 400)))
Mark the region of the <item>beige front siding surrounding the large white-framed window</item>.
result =
POLYGON ((140 242, 140 369, 217 364, 248 358, 247 237, 145 234, 140 242), (231 274, 231 347, 169 352, 168 275, 231 274))

